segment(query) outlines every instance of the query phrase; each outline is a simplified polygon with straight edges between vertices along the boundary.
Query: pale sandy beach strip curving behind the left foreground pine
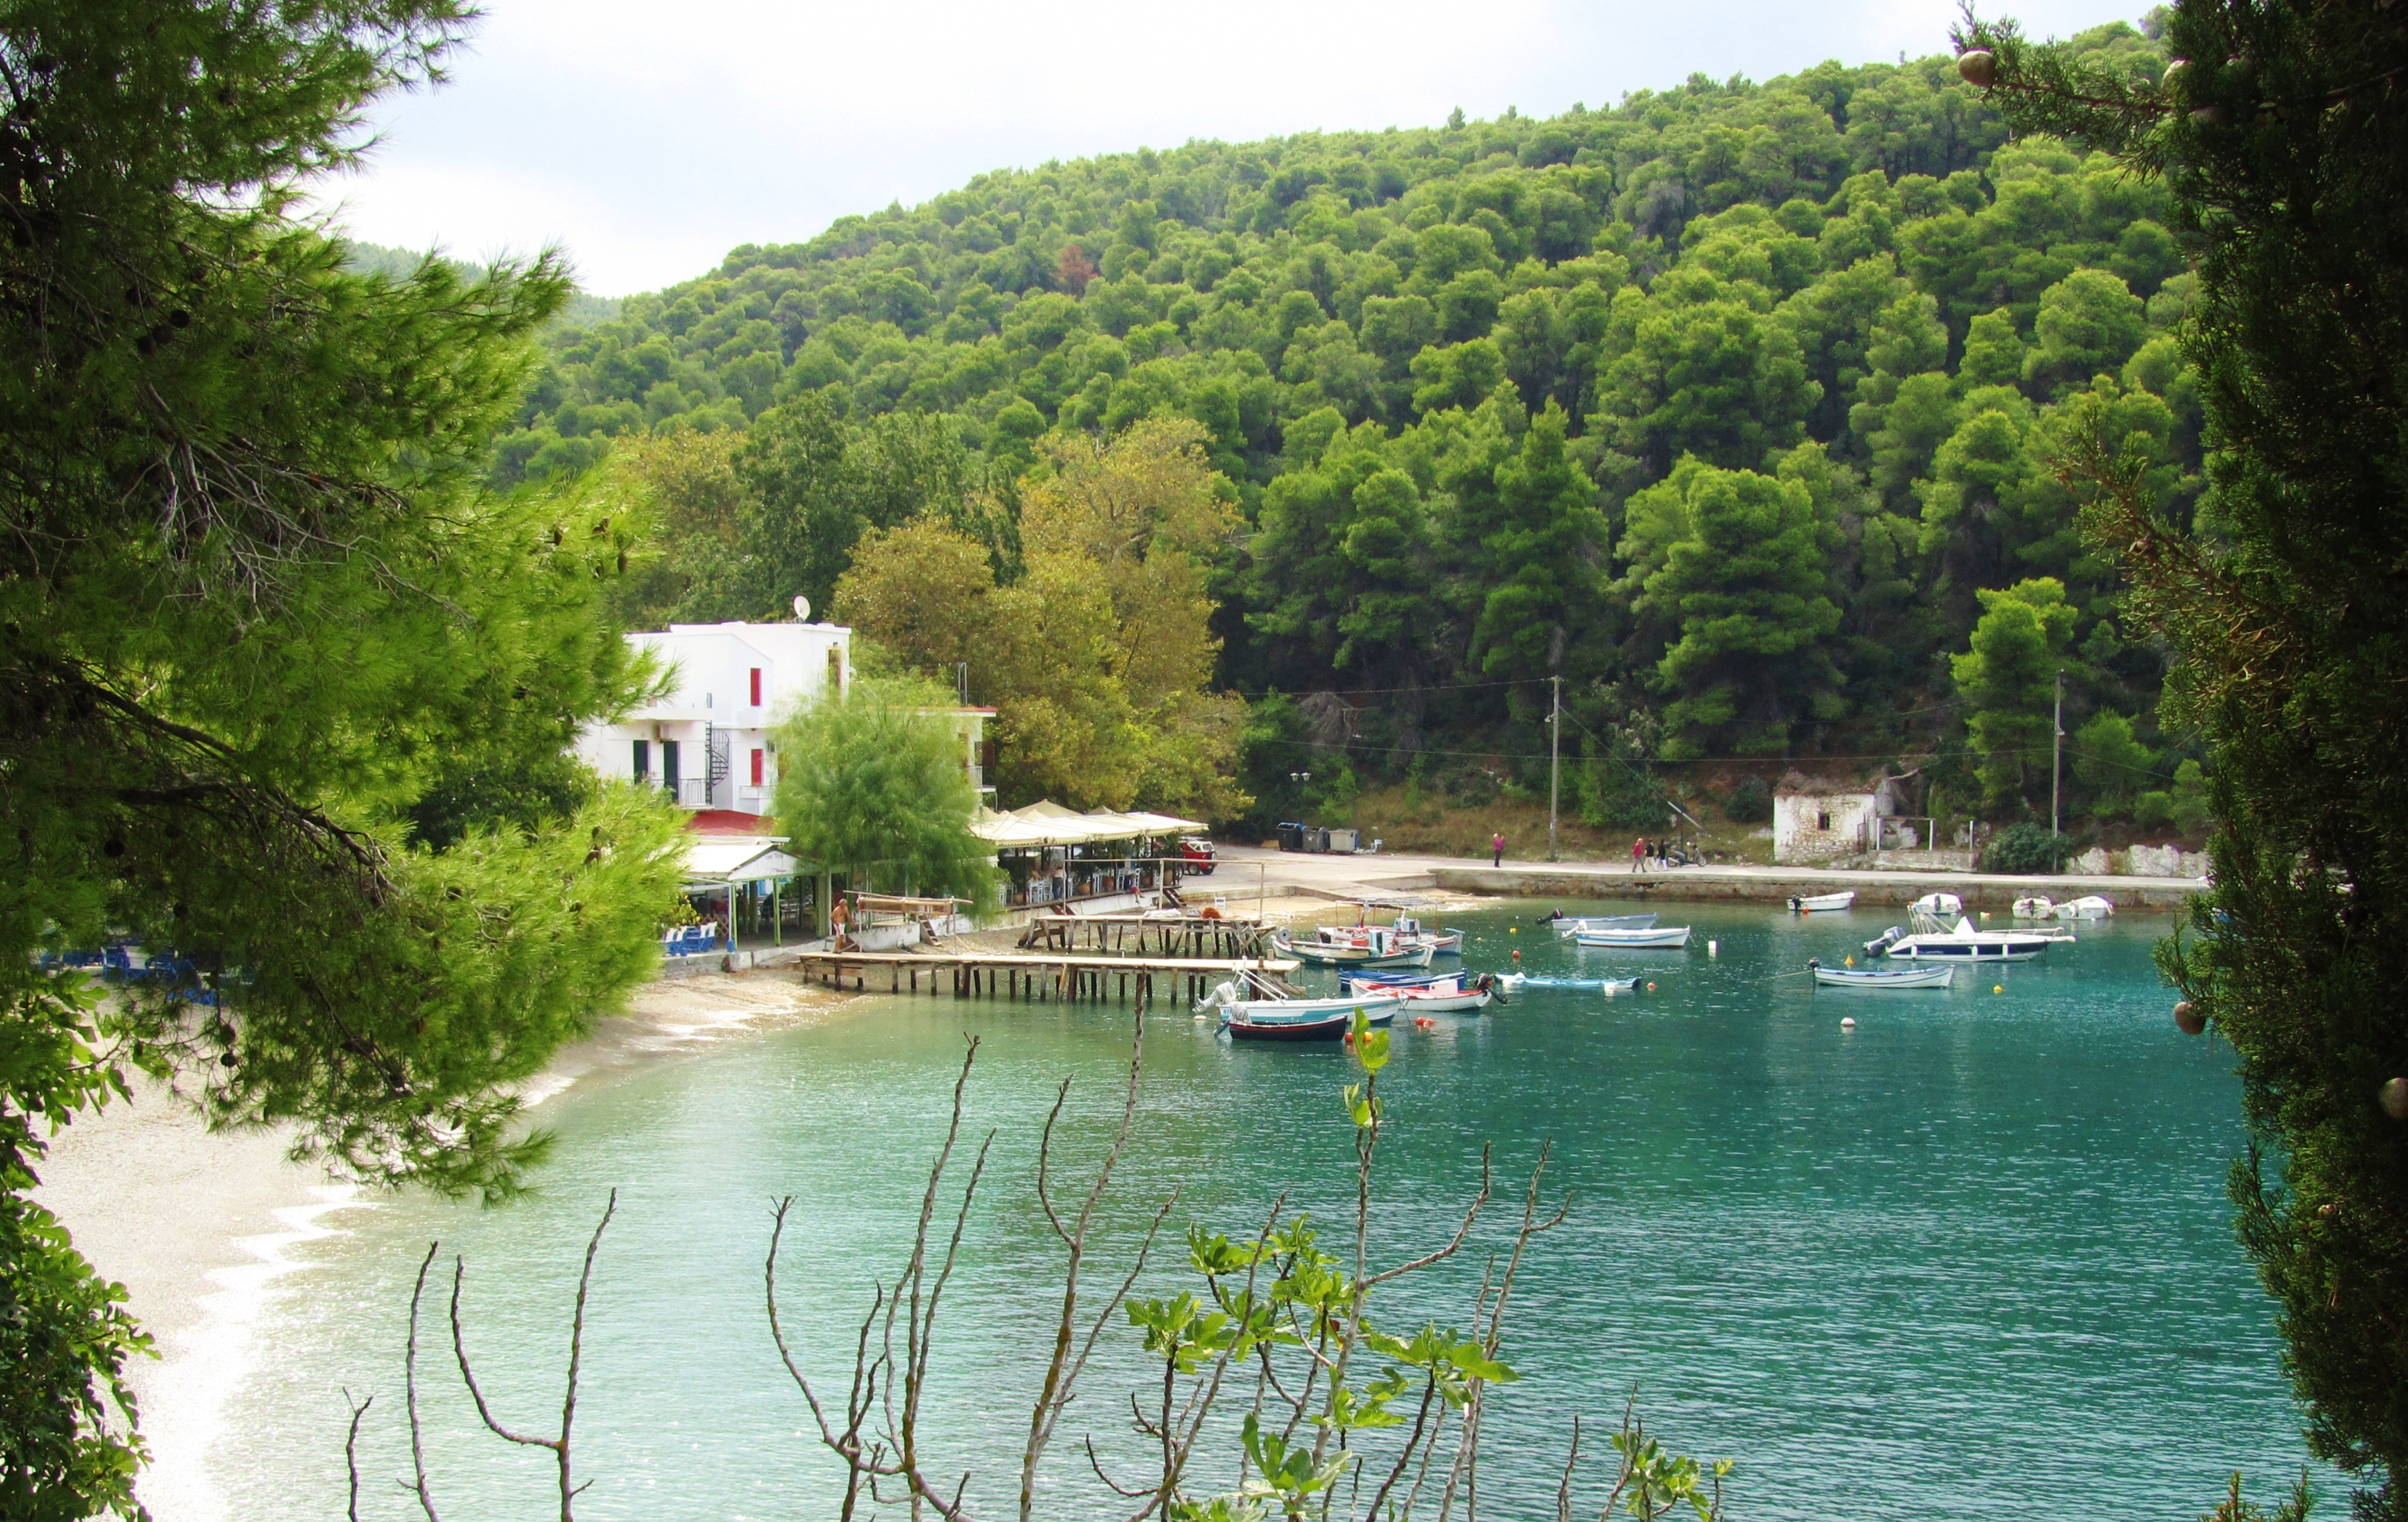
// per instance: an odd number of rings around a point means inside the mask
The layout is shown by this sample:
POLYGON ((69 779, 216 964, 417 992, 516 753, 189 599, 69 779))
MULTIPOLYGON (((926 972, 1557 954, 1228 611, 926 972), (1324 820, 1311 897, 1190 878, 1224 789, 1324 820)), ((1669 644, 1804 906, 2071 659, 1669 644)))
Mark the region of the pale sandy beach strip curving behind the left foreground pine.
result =
MULTIPOLYGON (((530 1105, 746 1031, 828 1019, 850 1004, 780 971, 643 985, 525 1086, 530 1105)), ((226 1397, 248 1373, 250 1332, 282 1281, 376 1194, 287 1158, 291 1134, 209 1132, 159 1084, 84 1115, 51 1142, 36 1199, 58 1211, 92 1264, 120 1281, 159 1358, 130 1370, 152 1464, 140 1493, 157 1522, 222 1522, 207 1476, 226 1397)))

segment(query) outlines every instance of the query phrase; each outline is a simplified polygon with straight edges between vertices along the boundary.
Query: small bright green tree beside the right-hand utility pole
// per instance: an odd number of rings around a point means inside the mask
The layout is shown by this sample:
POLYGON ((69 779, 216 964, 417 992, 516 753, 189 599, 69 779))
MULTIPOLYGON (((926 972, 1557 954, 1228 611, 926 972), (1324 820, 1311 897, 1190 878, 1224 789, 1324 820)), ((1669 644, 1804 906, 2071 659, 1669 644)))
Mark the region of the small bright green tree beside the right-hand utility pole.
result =
POLYGON ((2028 807, 2049 775, 2049 715, 2073 643, 2073 607, 2066 583, 2052 576, 1982 588, 1979 600, 1972 648, 1950 660, 1950 672, 1982 754, 1984 807, 2028 807))

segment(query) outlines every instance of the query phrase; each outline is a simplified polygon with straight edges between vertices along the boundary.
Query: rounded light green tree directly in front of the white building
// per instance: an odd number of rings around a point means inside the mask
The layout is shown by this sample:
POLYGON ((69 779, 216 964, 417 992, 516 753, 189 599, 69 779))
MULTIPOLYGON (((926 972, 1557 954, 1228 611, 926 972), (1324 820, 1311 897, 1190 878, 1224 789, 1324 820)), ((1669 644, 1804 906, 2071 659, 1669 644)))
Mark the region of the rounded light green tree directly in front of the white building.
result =
POLYGON ((778 828, 787 850, 855 889, 995 903, 995 848, 970 833, 978 787, 954 694, 862 677, 778 725, 778 828))

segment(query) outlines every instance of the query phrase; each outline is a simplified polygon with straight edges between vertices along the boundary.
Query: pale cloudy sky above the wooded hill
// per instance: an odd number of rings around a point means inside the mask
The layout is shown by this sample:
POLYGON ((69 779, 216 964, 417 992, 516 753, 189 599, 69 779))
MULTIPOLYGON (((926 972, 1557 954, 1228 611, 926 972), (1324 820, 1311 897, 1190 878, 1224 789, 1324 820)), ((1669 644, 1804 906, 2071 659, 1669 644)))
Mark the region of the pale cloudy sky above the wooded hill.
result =
MULTIPOLYGON (((2124 12, 2008 14, 2064 36, 2124 12)), ((588 291, 626 296, 987 169, 1457 106, 1553 116, 1693 72, 1919 58, 1953 19, 1955 0, 486 0, 450 82, 385 101, 368 164, 320 205, 366 243, 561 246, 588 291)))

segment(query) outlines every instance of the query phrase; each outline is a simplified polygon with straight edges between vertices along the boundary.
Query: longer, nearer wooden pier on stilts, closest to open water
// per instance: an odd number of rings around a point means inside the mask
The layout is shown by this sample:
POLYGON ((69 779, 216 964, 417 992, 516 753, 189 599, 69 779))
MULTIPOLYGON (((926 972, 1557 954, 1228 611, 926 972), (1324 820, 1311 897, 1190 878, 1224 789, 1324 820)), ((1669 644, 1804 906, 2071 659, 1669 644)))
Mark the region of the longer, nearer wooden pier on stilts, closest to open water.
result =
POLYGON ((1238 973, 1286 980, 1300 963, 1279 956, 1045 956, 1031 951, 804 951, 795 966, 828 987, 927 992, 990 999, 1105 1002, 1149 997, 1194 1004, 1214 983, 1238 973))

